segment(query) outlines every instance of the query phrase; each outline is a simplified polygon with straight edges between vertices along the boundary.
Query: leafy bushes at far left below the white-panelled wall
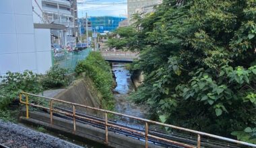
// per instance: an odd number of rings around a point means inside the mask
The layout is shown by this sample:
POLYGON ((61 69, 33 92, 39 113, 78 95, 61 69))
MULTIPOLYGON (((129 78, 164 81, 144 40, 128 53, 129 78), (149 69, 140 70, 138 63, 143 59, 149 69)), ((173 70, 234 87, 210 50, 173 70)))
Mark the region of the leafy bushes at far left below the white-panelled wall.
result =
POLYGON ((5 108, 8 104, 18 98, 20 91, 38 94, 42 91, 42 85, 38 81, 38 75, 32 71, 24 71, 24 73, 7 72, 1 77, 0 84, 0 109, 5 108))

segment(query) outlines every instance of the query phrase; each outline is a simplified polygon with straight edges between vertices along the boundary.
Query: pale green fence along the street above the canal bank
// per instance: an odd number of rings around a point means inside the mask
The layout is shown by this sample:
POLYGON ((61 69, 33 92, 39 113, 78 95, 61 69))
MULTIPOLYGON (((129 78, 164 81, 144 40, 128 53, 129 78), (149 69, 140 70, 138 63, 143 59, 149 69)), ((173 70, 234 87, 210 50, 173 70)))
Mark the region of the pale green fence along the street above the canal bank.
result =
POLYGON ((53 65, 59 65, 59 67, 63 69, 67 69, 70 73, 75 71, 75 66, 78 61, 82 61, 88 57, 91 48, 86 48, 85 50, 81 50, 79 52, 68 52, 67 50, 59 50, 58 52, 52 51, 52 61, 53 65))

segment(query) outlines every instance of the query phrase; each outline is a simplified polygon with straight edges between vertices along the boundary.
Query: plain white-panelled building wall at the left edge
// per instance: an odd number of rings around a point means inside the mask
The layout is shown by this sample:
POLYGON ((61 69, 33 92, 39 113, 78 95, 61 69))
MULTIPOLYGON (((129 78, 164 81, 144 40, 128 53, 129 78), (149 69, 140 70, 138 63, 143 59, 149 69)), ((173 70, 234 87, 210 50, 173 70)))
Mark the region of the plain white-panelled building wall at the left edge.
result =
POLYGON ((0 0, 0 20, 0 75, 45 73, 52 66, 51 32, 34 29, 32 0, 0 0))

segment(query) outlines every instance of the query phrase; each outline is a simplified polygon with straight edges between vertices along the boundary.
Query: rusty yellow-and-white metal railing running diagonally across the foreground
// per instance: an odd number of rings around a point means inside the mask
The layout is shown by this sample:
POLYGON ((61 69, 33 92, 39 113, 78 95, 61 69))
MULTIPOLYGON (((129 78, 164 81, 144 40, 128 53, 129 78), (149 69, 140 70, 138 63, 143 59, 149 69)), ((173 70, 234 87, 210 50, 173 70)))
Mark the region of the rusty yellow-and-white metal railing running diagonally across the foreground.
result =
POLYGON ((65 116, 71 116, 73 117, 73 132, 76 131, 76 120, 77 118, 82 118, 84 120, 89 120, 92 122, 96 122, 98 124, 102 124, 105 126, 104 130, 105 130, 105 143, 108 143, 108 130, 110 130, 110 128, 119 128, 122 131, 128 131, 130 133, 136 133, 137 135, 141 135, 142 137, 144 137, 144 141, 145 141, 145 147, 148 148, 148 143, 150 139, 154 139, 155 141, 163 141, 166 143, 171 143, 173 145, 179 146, 179 147, 189 147, 189 148, 201 148, 201 147, 256 147, 256 145, 252 144, 252 143, 246 143, 243 141, 236 141, 234 139, 228 139, 226 137, 220 137, 217 135, 212 135, 212 134, 208 134, 208 133, 203 133, 203 132, 199 132, 199 131, 194 131, 188 128, 182 128, 179 126, 174 126, 171 124, 164 124, 161 122, 156 122, 153 120, 148 120, 148 119, 144 119, 144 118, 137 118, 135 116, 129 116, 127 114, 121 114, 118 112, 112 112, 109 110, 102 110, 100 108, 94 108, 91 106, 85 106, 85 105, 81 105, 81 104, 75 104, 72 102, 66 102, 63 100, 57 100, 55 98, 49 98, 49 97, 44 97, 44 96, 38 96, 35 94, 30 94, 30 93, 26 93, 26 92, 21 92, 20 93, 20 103, 21 104, 25 104, 26 105, 26 118, 29 118, 29 106, 34 106, 36 108, 43 108, 44 110, 49 110, 50 111, 50 123, 53 124, 53 112, 55 113, 61 113, 64 114, 65 116), (26 102, 24 102, 23 98, 26 98, 26 102), (49 101, 49 105, 48 106, 40 106, 38 104, 32 104, 30 103, 31 101, 29 101, 29 98, 32 97, 38 97, 40 98, 40 100, 44 99, 44 100, 48 100, 49 101), (63 104, 69 104, 72 106, 72 111, 71 112, 67 112, 65 110, 60 110, 57 109, 53 106, 53 103, 63 103, 63 104), (88 118, 85 116, 80 116, 79 114, 77 114, 76 108, 77 107, 82 107, 82 108, 87 108, 87 109, 91 109, 91 110, 97 110, 99 112, 102 112, 104 114, 104 118, 102 120, 95 120, 93 118, 88 118), (129 126, 124 127, 121 126, 120 124, 113 124, 112 122, 110 122, 110 120, 108 119, 110 114, 114 114, 117 116, 123 116, 126 118, 133 118, 134 120, 139 120, 141 122, 144 123, 144 130, 143 131, 139 131, 137 129, 131 128, 129 126), (190 135, 196 135, 197 138, 195 139, 195 142, 191 143, 188 140, 191 140, 189 137, 185 138, 185 141, 175 141, 174 137, 166 137, 166 135, 162 135, 162 134, 156 134, 154 132, 152 132, 149 128, 148 124, 152 124, 152 125, 158 125, 158 126, 164 126, 164 127, 168 127, 168 128, 173 128, 179 131, 184 131, 187 133, 190 133, 190 135), (204 137, 204 139, 203 139, 204 137), (206 139, 205 139, 206 138, 206 139), (215 143, 211 144, 210 139, 215 139, 218 140, 215 143), (222 142, 226 142, 226 144, 222 144, 222 142), (209 145, 210 143, 210 145, 209 145), (234 145, 233 145, 234 144, 234 145), (233 145, 233 146, 232 146, 233 145))

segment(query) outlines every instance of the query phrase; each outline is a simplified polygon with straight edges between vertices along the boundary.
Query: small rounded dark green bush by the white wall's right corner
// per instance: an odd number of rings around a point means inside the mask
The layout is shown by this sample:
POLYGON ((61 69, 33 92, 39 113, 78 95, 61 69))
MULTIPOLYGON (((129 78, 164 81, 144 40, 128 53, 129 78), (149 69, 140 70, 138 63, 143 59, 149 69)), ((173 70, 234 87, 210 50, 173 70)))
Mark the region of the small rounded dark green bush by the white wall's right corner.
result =
POLYGON ((42 86, 47 88, 55 88, 55 87, 63 87, 67 85, 67 77, 65 74, 67 73, 66 69, 62 69, 57 65, 51 67, 49 71, 47 71, 46 75, 42 78, 42 86))

